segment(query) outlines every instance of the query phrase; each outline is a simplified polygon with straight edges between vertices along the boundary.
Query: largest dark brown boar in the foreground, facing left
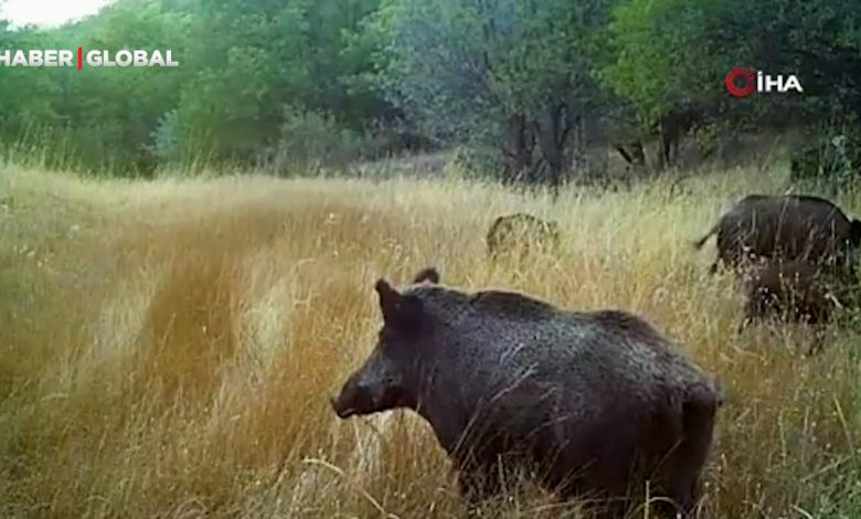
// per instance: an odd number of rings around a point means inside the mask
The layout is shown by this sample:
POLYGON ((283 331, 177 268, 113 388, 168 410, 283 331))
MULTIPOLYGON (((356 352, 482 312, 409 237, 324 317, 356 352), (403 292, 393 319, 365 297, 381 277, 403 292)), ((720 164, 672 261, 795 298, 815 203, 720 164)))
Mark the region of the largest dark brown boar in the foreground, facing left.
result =
POLYGON ((382 330, 332 400, 338 416, 415 411, 470 501, 500 491, 499 468, 532 468, 602 517, 621 517, 642 478, 694 509, 721 403, 710 375, 634 315, 465 293, 427 272, 403 292, 376 282, 382 330))

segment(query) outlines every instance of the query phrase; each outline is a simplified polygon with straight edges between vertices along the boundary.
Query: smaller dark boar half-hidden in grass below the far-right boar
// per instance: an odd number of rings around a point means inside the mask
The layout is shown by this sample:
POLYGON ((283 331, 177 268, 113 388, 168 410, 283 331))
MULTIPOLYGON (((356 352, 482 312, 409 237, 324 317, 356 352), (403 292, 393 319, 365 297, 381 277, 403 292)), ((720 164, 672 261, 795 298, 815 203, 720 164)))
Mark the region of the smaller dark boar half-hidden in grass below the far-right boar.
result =
POLYGON ((805 322, 816 333, 808 352, 817 353, 833 310, 846 306, 839 294, 849 279, 808 262, 789 261, 757 265, 744 274, 743 280, 745 309, 740 330, 774 317, 805 322))

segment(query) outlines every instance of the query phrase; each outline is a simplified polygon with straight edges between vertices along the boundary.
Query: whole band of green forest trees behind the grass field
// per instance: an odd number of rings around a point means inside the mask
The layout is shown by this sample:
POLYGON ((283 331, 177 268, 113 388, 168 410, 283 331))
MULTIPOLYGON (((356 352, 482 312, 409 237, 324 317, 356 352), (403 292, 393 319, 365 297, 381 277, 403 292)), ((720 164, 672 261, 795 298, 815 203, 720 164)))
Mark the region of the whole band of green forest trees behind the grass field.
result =
POLYGON ((0 49, 159 49, 178 68, 0 68, 0 152, 152 177, 279 174, 437 150, 502 180, 599 178, 794 135, 794 174, 861 168, 858 0, 118 0, 0 49), (734 98, 733 66, 804 94, 734 98), (681 147, 680 147, 681 144, 681 147))

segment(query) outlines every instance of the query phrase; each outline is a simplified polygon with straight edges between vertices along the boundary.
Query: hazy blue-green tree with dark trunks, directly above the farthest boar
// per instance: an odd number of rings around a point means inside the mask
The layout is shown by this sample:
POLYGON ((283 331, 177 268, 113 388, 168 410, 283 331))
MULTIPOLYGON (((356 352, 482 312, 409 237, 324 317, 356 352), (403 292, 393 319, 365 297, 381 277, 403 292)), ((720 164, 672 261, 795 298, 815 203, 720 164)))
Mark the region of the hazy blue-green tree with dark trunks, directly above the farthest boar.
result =
POLYGON ((444 144, 466 142, 508 179, 559 186, 606 2, 394 0, 369 24, 380 85, 444 144))

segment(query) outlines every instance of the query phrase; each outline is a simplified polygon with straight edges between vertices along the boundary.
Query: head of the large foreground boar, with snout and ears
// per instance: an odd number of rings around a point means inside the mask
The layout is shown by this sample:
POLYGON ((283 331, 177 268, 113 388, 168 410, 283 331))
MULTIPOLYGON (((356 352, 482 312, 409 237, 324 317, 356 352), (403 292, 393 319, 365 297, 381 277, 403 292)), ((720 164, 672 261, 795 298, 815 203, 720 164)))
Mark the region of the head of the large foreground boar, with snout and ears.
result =
MULTIPOLYGON (((425 268, 414 279, 414 283, 438 282, 435 268, 425 268)), ((385 279, 379 279, 374 289, 383 327, 371 356, 331 401, 341 419, 417 405, 418 352, 423 339, 429 336, 429 319, 415 295, 398 293, 385 279)))

